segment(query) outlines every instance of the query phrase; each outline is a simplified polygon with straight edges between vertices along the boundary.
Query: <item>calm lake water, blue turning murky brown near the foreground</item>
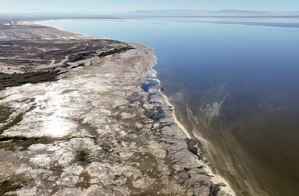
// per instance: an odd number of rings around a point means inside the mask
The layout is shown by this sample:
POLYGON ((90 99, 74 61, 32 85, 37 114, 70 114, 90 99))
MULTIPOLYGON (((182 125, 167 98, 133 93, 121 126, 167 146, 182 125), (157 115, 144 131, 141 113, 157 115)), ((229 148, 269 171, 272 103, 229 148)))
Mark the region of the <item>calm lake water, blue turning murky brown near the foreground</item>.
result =
POLYGON ((299 18, 40 23, 154 48, 163 92, 211 168, 238 195, 298 195, 299 18))

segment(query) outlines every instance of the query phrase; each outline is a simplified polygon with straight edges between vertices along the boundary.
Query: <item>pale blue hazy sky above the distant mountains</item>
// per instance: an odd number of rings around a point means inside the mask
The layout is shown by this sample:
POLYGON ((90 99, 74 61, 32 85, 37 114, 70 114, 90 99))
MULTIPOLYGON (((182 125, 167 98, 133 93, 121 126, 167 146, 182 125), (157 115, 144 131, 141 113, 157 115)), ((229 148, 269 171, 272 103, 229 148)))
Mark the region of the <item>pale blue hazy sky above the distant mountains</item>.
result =
POLYGON ((299 0, 0 0, 1 11, 21 9, 134 11, 158 9, 299 11, 299 0))

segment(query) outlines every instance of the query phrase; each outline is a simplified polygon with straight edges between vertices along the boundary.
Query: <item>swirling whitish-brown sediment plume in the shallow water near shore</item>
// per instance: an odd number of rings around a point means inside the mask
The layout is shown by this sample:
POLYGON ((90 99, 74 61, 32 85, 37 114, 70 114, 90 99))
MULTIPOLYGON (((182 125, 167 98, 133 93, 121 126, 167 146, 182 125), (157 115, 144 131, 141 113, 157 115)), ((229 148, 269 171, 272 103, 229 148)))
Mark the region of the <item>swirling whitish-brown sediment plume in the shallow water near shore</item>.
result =
POLYGON ((195 114, 187 105, 187 123, 191 125, 190 132, 201 142, 202 150, 206 158, 212 162, 213 168, 228 177, 242 194, 268 195, 256 184, 252 170, 257 168, 252 166, 258 164, 254 162, 254 157, 248 155, 246 149, 230 132, 234 124, 221 119, 221 107, 229 97, 227 93, 220 103, 214 102, 206 106, 202 104, 195 114))

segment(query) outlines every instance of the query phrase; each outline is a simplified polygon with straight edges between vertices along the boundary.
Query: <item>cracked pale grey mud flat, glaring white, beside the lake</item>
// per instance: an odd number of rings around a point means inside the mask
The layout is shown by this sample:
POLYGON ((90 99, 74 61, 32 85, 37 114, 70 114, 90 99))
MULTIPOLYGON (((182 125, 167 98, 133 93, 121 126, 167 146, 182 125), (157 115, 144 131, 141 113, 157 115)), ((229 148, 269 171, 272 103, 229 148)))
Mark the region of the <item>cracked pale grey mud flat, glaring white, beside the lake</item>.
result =
POLYGON ((2 135, 60 138, 0 151, 0 180, 33 179, 10 193, 234 194, 198 161, 195 143, 174 122, 153 80, 152 49, 128 44, 135 49, 89 59, 91 66, 74 68, 59 81, 0 91, 6 96, 0 105, 15 109, 12 118, 36 106, 2 135), (79 151, 87 152, 85 161, 78 160, 79 151))

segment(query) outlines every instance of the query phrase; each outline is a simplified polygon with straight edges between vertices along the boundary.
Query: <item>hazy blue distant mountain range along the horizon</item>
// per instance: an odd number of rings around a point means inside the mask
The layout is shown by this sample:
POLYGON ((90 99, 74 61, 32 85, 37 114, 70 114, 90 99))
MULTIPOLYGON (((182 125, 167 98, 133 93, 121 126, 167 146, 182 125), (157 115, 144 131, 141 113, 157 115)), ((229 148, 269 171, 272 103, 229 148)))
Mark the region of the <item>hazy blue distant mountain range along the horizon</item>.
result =
POLYGON ((132 12, 119 11, 49 11, 49 10, 19 10, 15 13, 0 13, 0 16, 23 17, 299 17, 299 11, 295 12, 269 12, 269 11, 244 11, 226 9, 220 11, 209 10, 137 10, 132 12))

